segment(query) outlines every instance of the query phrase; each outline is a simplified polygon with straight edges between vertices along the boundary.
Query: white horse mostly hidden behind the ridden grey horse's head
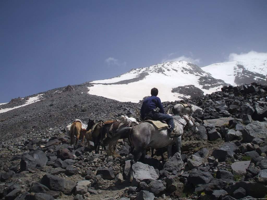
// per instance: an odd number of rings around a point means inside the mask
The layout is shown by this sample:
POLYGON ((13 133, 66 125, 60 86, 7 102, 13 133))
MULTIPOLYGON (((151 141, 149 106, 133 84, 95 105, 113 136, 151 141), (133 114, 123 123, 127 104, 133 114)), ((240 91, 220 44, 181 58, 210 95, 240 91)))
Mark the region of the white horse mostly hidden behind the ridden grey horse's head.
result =
POLYGON ((204 114, 204 111, 201 107, 191 104, 190 106, 184 106, 183 103, 177 103, 172 107, 172 113, 174 115, 177 114, 189 114, 193 115, 195 113, 200 113, 201 115, 204 114))

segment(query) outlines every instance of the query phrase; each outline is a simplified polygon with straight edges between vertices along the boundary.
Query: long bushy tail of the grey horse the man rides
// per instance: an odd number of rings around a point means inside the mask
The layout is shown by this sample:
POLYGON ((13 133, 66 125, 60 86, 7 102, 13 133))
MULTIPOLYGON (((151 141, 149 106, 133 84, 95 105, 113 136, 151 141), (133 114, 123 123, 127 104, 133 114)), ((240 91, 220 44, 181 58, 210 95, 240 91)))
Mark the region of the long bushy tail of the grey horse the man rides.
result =
POLYGON ((115 146, 118 139, 127 138, 129 136, 130 130, 132 127, 125 127, 121 128, 118 131, 116 131, 116 134, 111 137, 109 143, 108 143, 108 155, 112 155, 117 157, 117 153, 115 152, 115 146))

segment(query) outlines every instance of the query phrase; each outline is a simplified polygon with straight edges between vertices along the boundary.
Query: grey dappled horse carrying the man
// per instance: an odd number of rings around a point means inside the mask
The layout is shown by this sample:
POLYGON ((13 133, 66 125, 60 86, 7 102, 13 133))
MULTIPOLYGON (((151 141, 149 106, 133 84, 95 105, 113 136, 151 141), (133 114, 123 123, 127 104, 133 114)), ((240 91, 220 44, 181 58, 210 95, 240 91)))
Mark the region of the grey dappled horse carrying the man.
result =
POLYGON ((174 115, 173 119, 174 124, 176 126, 175 131, 178 135, 180 135, 177 138, 171 139, 167 133, 167 128, 158 130, 155 128, 154 125, 149 122, 143 122, 133 127, 122 128, 117 131, 116 134, 111 138, 111 140, 109 141, 108 150, 109 153, 113 155, 116 155, 113 149, 116 145, 116 142, 120 138, 128 137, 133 147, 135 147, 135 155, 131 160, 130 182, 133 178, 132 165, 139 161, 140 158, 144 160, 144 157, 146 155, 146 149, 148 147, 162 148, 168 146, 168 158, 170 158, 171 145, 174 143, 176 144, 177 152, 181 153, 182 135, 184 129, 187 127, 193 131, 197 131, 194 119, 190 115, 174 115))

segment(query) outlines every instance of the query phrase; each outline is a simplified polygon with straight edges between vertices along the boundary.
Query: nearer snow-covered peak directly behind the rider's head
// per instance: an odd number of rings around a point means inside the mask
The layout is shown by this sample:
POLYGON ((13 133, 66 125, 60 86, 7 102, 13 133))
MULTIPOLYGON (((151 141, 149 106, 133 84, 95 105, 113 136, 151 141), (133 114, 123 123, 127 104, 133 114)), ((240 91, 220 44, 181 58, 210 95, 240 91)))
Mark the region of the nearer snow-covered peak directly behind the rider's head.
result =
POLYGON ((175 101, 210 94, 226 83, 195 64, 179 61, 132 69, 120 76, 90 82, 88 93, 122 102, 138 103, 158 88, 161 101, 175 101))

